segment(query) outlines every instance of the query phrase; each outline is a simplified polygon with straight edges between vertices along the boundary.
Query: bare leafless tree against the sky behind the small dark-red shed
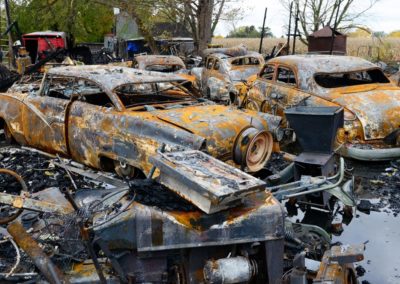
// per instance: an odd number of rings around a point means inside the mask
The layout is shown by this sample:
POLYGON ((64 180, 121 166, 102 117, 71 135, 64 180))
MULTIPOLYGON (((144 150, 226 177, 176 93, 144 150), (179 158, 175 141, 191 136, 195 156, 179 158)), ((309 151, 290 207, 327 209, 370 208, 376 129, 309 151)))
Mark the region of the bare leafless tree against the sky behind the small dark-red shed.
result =
MULTIPOLYGON (((360 17, 378 1, 365 0, 366 6, 361 9, 357 0, 293 0, 292 16, 295 20, 298 10, 300 40, 307 44, 307 37, 324 26, 341 30, 358 27, 360 17)), ((284 5, 288 8, 290 0, 285 0, 284 5)))

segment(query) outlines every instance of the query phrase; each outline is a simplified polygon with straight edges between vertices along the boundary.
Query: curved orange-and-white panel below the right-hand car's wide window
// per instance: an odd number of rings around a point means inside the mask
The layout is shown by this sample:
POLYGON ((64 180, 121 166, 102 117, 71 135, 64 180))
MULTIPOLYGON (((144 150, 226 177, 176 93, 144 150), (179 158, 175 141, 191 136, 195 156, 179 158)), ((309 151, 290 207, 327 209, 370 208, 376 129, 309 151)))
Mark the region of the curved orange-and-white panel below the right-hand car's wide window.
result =
POLYGON ((364 139, 383 139, 400 128, 400 89, 341 92, 332 102, 346 107, 360 120, 364 139))

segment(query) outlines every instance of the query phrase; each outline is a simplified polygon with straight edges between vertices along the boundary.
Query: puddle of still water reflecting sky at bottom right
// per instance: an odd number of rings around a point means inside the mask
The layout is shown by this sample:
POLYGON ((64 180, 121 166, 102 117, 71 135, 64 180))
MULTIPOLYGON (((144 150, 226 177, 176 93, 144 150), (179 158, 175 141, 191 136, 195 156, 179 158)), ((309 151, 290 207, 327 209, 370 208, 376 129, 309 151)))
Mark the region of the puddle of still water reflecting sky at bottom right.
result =
MULTIPOLYGON (((369 200, 372 204, 381 201, 379 198, 367 199, 366 195, 362 199, 369 200)), ((341 225, 338 226, 343 228, 340 235, 331 233, 332 243, 366 243, 364 260, 355 263, 355 267, 361 265, 366 270, 358 278, 360 283, 400 283, 400 216, 396 217, 389 207, 384 207, 379 212, 371 211, 370 214, 356 211, 352 218, 348 218, 341 214, 340 204, 334 206, 333 212, 338 213, 332 216, 331 213, 321 210, 297 210, 297 214, 290 219, 320 226, 328 233, 332 232, 332 224, 341 225)))

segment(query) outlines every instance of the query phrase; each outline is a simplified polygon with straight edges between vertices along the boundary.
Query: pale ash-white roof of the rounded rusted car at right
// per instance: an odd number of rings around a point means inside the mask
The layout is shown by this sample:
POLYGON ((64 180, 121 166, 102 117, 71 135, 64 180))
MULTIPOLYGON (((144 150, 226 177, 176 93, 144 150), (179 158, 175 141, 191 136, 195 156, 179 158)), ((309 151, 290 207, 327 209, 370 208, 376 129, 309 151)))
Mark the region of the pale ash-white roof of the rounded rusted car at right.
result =
POLYGON ((343 55, 286 55, 275 57, 267 61, 268 63, 285 64, 295 67, 299 73, 306 71, 309 73, 339 73, 357 70, 378 68, 377 65, 354 56, 343 55))

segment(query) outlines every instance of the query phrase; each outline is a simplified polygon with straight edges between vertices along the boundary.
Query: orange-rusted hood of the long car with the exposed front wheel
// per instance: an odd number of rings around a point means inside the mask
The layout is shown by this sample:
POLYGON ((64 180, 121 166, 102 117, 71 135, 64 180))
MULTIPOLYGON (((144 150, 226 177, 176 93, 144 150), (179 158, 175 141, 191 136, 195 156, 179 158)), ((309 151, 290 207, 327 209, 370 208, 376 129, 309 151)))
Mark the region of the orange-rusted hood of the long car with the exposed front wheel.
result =
POLYGON ((207 141, 207 151, 216 157, 232 153, 236 136, 252 125, 266 130, 261 117, 220 105, 192 106, 181 109, 155 111, 160 120, 201 136, 207 141))

